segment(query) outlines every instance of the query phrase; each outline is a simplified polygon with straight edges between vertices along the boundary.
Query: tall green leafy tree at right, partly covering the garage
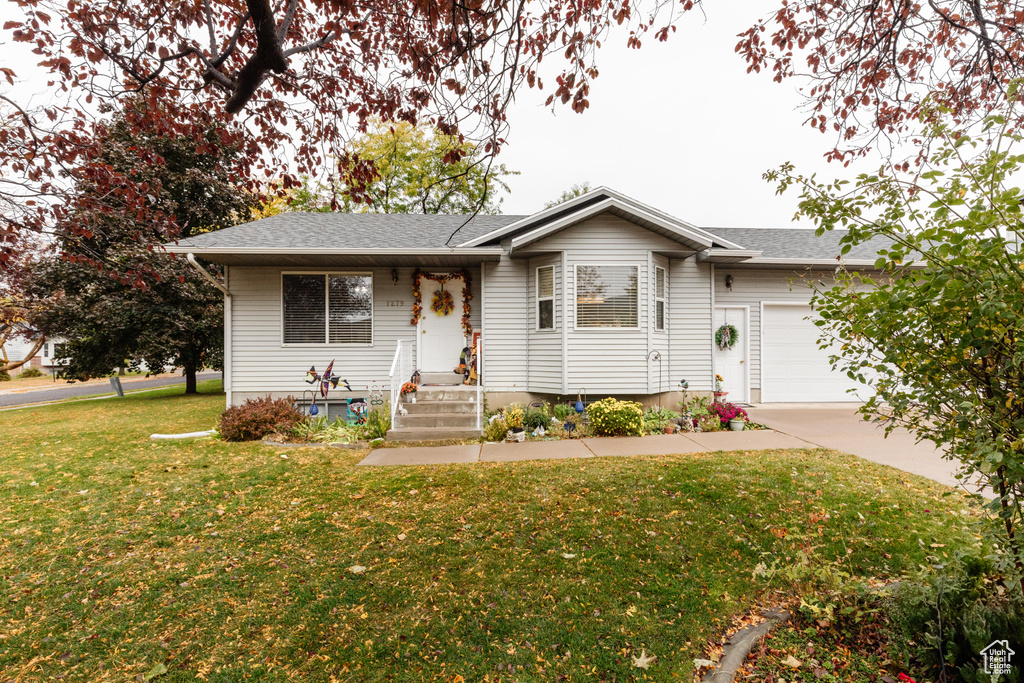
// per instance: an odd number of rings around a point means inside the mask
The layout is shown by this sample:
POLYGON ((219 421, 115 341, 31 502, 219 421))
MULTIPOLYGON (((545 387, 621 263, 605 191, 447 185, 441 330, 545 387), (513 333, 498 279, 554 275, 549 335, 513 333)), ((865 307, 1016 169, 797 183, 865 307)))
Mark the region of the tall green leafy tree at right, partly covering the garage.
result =
POLYGON ((1024 589, 1024 222, 1009 182, 1024 157, 1001 117, 977 138, 943 112, 933 121, 934 152, 912 173, 822 184, 787 165, 767 177, 801 188, 819 234, 847 228, 844 254, 887 245, 873 274, 841 267, 837 287, 817 289, 820 343, 843 340, 834 368, 873 386, 865 416, 891 417, 888 430, 907 427, 981 477, 1006 575, 1024 589))

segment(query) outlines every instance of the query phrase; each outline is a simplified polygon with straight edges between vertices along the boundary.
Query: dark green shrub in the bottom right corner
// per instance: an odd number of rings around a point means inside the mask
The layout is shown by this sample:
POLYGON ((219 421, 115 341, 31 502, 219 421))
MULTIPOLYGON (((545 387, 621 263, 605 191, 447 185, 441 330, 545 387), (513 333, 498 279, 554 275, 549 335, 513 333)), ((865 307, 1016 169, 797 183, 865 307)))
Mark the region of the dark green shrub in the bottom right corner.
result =
POLYGON ((974 555, 901 582, 887 611, 891 656, 931 680, 938 680, 943 658, 947 676, 958 675, 949 680, 994 680, 982 669, 981 650, 995 640, 1009 640, 1017 651, 1024 646, 1020 587, 1004 587, 991 562, 974 555))

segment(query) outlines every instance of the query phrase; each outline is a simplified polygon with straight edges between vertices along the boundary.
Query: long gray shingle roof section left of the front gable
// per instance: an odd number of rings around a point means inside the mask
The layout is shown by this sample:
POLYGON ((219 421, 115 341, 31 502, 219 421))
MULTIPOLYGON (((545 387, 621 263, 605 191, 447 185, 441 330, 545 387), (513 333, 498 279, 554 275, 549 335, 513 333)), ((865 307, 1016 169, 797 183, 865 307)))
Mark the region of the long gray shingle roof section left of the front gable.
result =
POLYGON ((445 242, 457 229, 459 233, 452 238, 449 246, 497 230, 520 218, 522 216, 282 213, 197 234, 178 244, 196 249, 438 249, 446 246, 445 242))

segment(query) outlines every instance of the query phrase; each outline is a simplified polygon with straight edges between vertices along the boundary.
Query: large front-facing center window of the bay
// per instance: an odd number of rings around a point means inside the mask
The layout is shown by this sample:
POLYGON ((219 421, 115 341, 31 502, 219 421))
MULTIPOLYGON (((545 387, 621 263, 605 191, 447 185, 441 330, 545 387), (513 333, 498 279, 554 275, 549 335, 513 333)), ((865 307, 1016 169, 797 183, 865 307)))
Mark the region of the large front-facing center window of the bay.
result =
POLYGON ((637 328, 639 268, 635 265, 578 265, 578 328, 637 328))

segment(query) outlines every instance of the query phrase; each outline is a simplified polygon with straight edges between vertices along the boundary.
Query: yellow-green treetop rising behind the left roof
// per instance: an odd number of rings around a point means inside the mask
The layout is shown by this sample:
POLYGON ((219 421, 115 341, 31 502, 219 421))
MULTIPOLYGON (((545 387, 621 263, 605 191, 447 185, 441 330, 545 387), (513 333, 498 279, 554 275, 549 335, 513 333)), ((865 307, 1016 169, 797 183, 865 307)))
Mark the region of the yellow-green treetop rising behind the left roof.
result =
POLYGON ((469 142, 430 126, 373 123, 349 142, 343 168, 373 170, 347 173, 326 184, 308 179, 290 202, 297 211, 461 214, 501 210, 505 177, 516 175, 494 164, 469 142), (366 200, 364 201, 364 197, 366 200))

